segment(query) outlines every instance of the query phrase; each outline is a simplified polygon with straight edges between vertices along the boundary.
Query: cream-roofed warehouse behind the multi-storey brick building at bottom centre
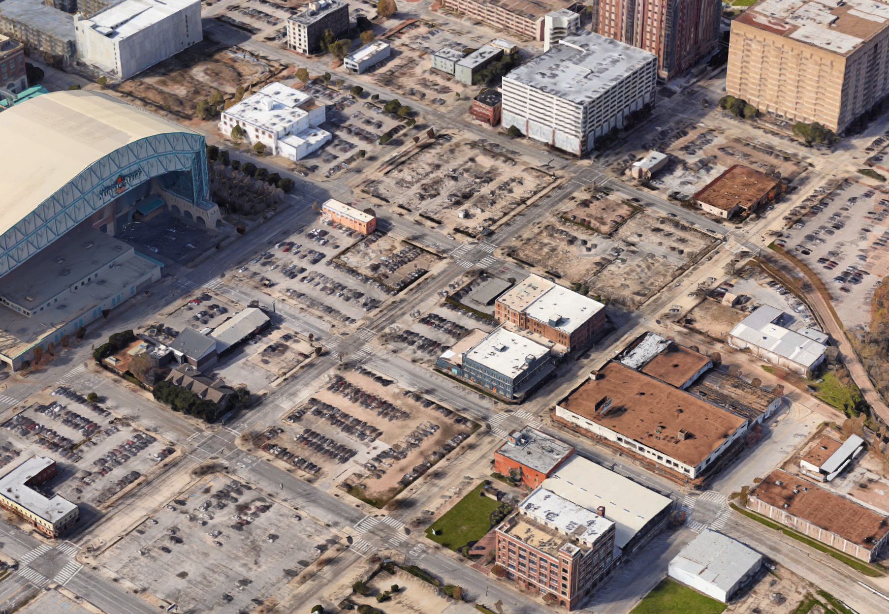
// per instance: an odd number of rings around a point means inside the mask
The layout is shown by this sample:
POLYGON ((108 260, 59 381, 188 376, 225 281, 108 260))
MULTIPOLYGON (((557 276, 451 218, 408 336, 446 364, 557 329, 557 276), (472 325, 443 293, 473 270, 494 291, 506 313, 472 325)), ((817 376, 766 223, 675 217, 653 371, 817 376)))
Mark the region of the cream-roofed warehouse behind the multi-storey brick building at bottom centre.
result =
POLYGON ((604 508, 605 518, 617 525, 614 545, 621 551, 631 552, 661 527, 673 506, 670 498, 576 454, 541 482, 541 488, 593 512, 604 508))

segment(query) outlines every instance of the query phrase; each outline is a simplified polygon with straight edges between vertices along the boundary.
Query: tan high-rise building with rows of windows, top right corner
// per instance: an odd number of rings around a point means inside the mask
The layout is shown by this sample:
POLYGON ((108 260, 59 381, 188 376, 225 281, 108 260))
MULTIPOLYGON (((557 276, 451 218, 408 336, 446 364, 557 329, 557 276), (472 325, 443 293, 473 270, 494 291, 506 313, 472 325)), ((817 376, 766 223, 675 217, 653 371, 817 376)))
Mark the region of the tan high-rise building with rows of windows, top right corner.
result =
POLYGON ((889 93, 887 36, 883 2, 761 0, 732 21, 725 92, 843 132, 889 93))

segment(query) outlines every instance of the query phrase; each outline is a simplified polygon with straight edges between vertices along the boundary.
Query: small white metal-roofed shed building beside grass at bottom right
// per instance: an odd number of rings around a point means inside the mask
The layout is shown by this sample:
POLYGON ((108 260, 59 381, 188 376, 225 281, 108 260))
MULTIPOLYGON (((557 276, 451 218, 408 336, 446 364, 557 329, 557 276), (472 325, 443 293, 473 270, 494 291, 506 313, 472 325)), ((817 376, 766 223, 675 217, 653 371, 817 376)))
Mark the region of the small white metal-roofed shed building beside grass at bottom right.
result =
POLYGON ((668 573, 670 578, 727 603, 762 564, 763 556, 756 550, 705 529, 669 562, 668 573))

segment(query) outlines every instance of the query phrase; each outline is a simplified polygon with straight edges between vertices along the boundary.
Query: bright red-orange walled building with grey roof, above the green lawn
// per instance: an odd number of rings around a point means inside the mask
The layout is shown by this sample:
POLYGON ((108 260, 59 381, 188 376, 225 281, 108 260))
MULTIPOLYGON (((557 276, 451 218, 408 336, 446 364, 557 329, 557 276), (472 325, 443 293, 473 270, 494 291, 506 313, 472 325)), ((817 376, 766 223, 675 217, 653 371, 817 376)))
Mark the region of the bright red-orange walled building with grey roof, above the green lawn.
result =
POLYGON ((494 471, 512 474, 526 486, 537 488, 573 453, 573 446, 525 427, 510 433, 507 443, 494 452, 494 471))

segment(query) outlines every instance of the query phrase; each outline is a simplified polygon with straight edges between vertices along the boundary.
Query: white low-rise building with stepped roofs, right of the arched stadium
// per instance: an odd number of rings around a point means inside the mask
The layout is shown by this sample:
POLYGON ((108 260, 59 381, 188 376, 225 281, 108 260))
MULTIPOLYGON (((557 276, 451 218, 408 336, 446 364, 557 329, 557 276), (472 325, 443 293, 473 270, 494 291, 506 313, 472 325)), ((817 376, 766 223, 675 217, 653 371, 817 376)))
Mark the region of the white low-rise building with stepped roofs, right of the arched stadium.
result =
POLYGON ((272 155, 299 160, 331 140, 318 128, 326 118, 326 107, 307 93, 272 83, 222 111, 220 131, 230 135, 240 126, 251 145, 261 142, 272 155))

